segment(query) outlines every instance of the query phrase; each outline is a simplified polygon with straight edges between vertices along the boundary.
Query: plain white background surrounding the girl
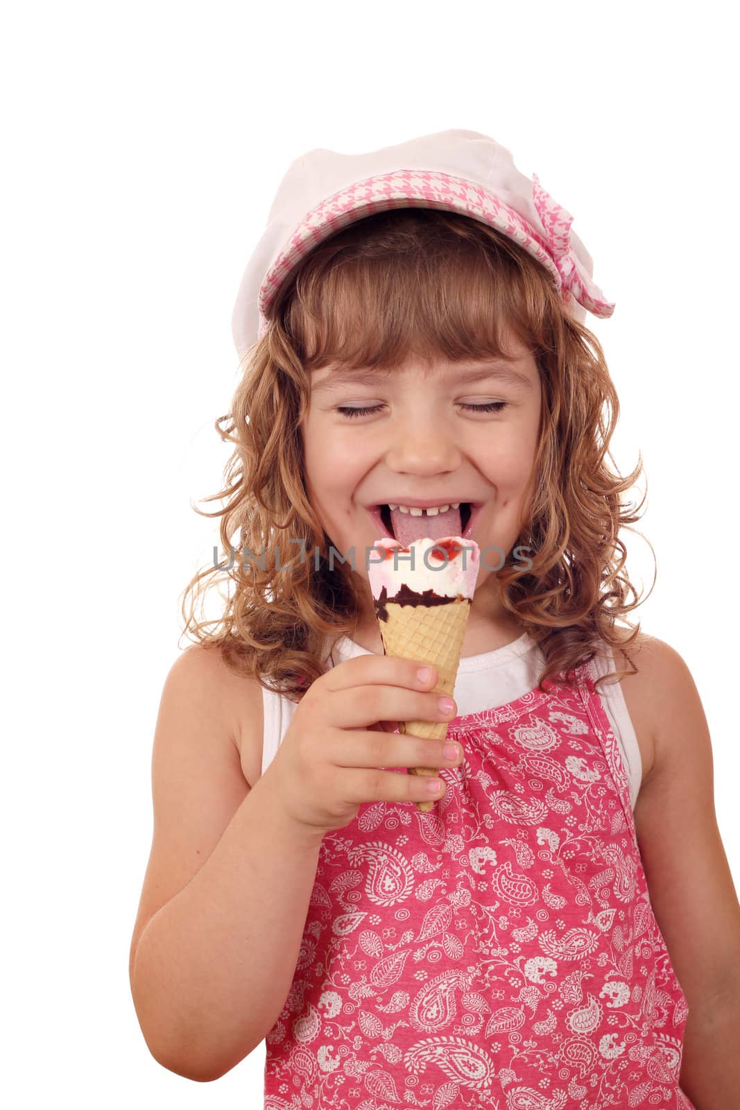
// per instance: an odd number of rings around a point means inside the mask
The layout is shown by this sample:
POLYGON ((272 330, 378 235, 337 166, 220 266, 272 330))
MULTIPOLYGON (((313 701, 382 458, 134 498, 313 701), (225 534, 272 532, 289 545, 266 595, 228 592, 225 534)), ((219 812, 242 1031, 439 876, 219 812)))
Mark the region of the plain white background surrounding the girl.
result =
MULTIPOLYGON (((261 1106, 149 1054, 128 980, 178 598, 217 543, 230 317, 290 162, 483 131, 575 216, 740 885, 737 85, 719 3, 17 4, 2 82, 3 1083, 13 1106, 261 1106)), ((633 579, 645 539, 625 533, 633 579)), ((681 846, 677 844, 677 852, 681 846)))

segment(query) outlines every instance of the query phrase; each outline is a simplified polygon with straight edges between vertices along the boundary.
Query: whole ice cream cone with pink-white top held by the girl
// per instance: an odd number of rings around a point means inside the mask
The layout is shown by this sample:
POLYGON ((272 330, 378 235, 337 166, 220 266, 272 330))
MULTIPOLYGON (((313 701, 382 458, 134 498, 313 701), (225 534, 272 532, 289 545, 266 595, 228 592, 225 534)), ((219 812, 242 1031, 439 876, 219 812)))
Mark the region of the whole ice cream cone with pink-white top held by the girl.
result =
MULTIPOLYGON (((387 538, 376 541, 375 546, 383 547, 387 556, 383 564, 371 563, 368 567, 385 654, 433 664, 438 674, 435 693, 453 697, 479 569, 477 545, 459 536, 419 539, 410 545, 418 548, 414 552, 413 566, 408 562, 399 566, 399 561, 395 561, 393 569, 388 566, 389 556, 396 549, 408 556, 409 548, 403 548, 397 541, 387 538), (434 566, 434 549, 438 547, 447 551, 448 562, 438 569, 429 569, 429 563, 434 566), (465 567, 460 566, 462 548, 467 549, 468 565, 465 567), (419 569, 416 567, 417 557, 422 563, 419 569), (374 571, 374 567, 377 568, 374 571)), ((398 722, 401 733, 437 740, 445 738, 447 727, 447 722, 398 722)), ((435 767, 409 767, 408 771, 410 775, 438 776, 438 768, 435 767)), ((416 803, 423 813, 428 813, 433 805, 433 801, 416 803)))

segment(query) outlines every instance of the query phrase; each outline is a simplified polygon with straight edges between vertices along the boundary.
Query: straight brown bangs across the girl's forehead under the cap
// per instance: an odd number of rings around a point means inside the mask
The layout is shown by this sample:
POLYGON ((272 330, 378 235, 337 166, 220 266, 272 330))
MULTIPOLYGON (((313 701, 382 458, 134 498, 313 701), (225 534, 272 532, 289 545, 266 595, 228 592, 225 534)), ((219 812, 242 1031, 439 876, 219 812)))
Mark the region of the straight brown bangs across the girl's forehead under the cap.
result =
POLYGON ((508 236, 435 209, 393 209, 325 240, 281 291, 291 344, 310 373, 513 357, 551 345, 560 314, 547 271, 508 236))

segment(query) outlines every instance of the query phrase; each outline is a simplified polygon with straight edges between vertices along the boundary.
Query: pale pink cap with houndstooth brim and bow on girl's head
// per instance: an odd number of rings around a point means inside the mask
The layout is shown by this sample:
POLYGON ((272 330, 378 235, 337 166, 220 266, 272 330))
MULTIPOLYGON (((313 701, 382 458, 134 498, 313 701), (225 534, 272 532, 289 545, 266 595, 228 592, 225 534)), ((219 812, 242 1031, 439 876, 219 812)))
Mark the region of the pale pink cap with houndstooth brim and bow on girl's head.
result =
POLYGON ((510 235, 550 273, 572 316, 610 316, 572 216, 525 176, 510 152, 477 131, 439 131, 368 154, 316 149, 288 167, 239 287, 232 334, 240 359, 261 340, 280 289, 335 232, 387 209, 435 208, 510 235))

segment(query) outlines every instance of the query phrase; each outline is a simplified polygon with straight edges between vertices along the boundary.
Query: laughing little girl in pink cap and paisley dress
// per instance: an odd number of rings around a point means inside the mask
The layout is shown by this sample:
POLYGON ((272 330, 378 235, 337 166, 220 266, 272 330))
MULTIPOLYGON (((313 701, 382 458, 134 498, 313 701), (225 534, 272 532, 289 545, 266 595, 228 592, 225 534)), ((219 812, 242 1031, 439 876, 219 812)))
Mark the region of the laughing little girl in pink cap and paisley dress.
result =
POLYGON ((640 468, 605 461, 585 321, 614 304, 571 219, 472 131, 313 150, 278 189, 216 422, 226 557, 154 738, 131 983, 179 1074, 264 1039, 270 1110, 740 1106, 711 744, 624 624, 640 468), (383 654, 384 535, 480 547, 452 704, 383 654))

